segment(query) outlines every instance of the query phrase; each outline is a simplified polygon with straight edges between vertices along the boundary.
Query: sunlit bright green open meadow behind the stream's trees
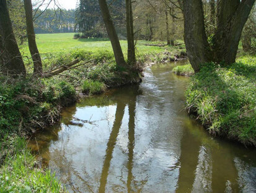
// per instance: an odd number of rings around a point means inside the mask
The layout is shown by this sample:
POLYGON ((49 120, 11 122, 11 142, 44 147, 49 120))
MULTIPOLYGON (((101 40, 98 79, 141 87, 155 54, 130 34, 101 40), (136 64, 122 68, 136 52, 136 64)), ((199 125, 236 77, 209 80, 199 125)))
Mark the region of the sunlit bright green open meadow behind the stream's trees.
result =
MULTIPOLYGON (((50 34, 37 34, 37 46, 41 54, 50 54, 50 53, 67 53, 74 49, 83 49, 85 51, 102 51, 102 50, 111 50, 112 46, 109 40, 107 39, 73 39, 74 33, 50 33, 50 34)), ((123 53, 126 55, 127 53, 127 41, 120 40, 121 48, 123 49, 123 53)), ((154 43, 152 41, 137 41, 136 49, 137 54, 145 54, 145 53, 161 53, 166 49, 168 51, 174 51, 174 48, 170 46, 146 46, 145 44, 164 44, 166 42, 157 42, 154 43)), ((180 41, 179 41, 180 43, 180 41)), ((21 51, 24 56, 29 56, 29 47, 27 43, 22 45, 21 51)), ((185 45, 180 45, 178 48, 181 50, 185 48, 185 45)), ((177 49, 177 48, 175 48, 177 49)))

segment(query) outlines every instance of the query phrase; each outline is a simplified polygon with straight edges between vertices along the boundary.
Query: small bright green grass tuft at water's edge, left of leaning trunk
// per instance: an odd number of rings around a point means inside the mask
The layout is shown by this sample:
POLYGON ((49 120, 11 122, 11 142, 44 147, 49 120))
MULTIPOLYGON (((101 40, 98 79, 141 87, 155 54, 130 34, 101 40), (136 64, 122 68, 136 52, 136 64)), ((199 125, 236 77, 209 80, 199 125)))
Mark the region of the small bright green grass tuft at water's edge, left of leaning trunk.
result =
POLYGON ((82 84, 82 93, 94 95, 103 92, 105 84, 99 81, 85 80, 82 84))

